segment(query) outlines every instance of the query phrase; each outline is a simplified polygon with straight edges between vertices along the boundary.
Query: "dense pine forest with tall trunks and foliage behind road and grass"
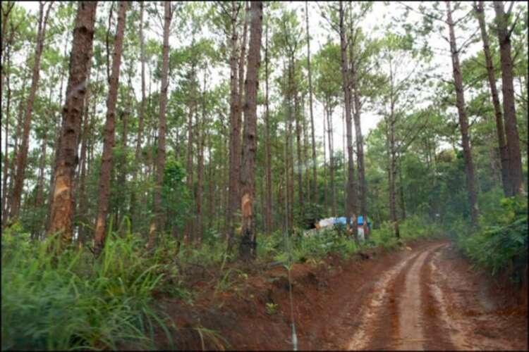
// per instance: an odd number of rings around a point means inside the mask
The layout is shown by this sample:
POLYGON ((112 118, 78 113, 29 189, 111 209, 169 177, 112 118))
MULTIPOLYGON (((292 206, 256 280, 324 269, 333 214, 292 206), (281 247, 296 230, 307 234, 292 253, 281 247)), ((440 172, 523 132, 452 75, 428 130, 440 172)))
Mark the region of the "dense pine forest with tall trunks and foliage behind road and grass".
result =
POLYGON ((54 268, 143 272, 283 260, 284 233, 363 215, 351 251, 435 232, 523 270, 525 2, 3 1, 1 24, 3 317, 21 248, 56 239, 54 268))

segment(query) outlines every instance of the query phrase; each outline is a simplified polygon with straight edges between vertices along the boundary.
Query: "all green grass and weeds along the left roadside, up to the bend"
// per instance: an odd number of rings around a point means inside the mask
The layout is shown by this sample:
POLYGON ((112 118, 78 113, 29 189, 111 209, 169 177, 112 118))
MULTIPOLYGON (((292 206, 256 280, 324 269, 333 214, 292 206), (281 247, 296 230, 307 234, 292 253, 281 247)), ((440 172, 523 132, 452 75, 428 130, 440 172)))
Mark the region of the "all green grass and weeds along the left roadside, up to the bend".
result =
MULTIPOLYGON (((401 224, 401 237, 429 237, 435 228, 409 218, 401 224)), ((276 232, 259 239, 255 264, 275 261, 287 268, 296 262, 319 263, 329 253, 346 259, 362 249, 399 246, 389 224, 373 230, 372 240, 360 247, 338 230, 288 239, 276 232)), ((16 227, 1 238, 3 350, 116 349, 123 344, 152 349, 155 331, 170 340, 171 330, 178 328, 155 297, 192 303, 198 292, 190 282, 197 272, 213 272, 216 294, 248 277, 226 264, 229 258, 218 240, 197 249, 162 237, 157 250, 147 253, 138 234, 111 232, 97 260, 87 249, 71 248, 56 261, 50 255, 54 241, 30 241, 30 234, 16 227)))

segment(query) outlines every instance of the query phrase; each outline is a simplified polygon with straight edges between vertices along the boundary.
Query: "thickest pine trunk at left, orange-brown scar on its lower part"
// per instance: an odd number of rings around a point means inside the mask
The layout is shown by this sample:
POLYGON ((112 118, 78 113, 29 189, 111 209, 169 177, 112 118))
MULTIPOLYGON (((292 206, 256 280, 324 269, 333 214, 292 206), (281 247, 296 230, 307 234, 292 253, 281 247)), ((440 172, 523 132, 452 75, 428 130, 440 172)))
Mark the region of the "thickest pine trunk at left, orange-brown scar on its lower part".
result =
POLYGON ((63 107, 62 128, 59 134, 54 177, 53 198, 50 204, 48 233, 61 232, 64 243, 73 237, 75 199, 73 180, 78 163, 78 138, 83 115, 87 77, 92 58, 94 24, 97 1, 80 1, 70 56, 70 73, 63 107))

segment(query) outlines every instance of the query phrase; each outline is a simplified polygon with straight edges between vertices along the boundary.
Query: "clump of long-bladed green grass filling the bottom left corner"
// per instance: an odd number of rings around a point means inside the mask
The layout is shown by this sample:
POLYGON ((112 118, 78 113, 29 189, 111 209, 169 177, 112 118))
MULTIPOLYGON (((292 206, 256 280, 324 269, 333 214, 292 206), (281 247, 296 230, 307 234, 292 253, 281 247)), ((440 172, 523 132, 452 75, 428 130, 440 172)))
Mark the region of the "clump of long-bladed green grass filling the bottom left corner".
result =
POLYGON ((54 256, 56 241, 2 236, 3 350, 149 349, 157 325, 170 339, 152 298, 164 274, 142 241, 110 234, 97 260, 84 249, 54 256))

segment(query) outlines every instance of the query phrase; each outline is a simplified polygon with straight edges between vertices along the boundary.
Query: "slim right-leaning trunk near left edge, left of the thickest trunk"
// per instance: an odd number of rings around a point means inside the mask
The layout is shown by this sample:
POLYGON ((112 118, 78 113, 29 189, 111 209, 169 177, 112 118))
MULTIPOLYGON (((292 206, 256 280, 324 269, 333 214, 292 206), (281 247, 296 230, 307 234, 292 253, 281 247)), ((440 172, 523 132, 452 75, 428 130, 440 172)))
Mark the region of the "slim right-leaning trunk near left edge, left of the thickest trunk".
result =
POLYGON ((37 28, 37 44, 35 46, 35 58, 33 63, 33 73, 31 79, 30 95, 25 107, 24 126, 22 135, 22 145, 16 159, 16 177, 15 187, 13 189, 13 198, 11 199, 11 219, 16 220, 20 212, 20 200, 22 198, 22 190, 24 186, 25 165, 28 159, 28 147, 30 142, 30 125, 31 115, 33 112, 33 102, 35 101, 35 94, 37 94, 37 87, 39 85, 40 77, 40 56, 44 49, 44 37, 46 34, 46 25, 49 11, 53 6, 54 1, 51 1, 46 12, 44 13, 44 2, 39 3, 39 23, 37 28))

